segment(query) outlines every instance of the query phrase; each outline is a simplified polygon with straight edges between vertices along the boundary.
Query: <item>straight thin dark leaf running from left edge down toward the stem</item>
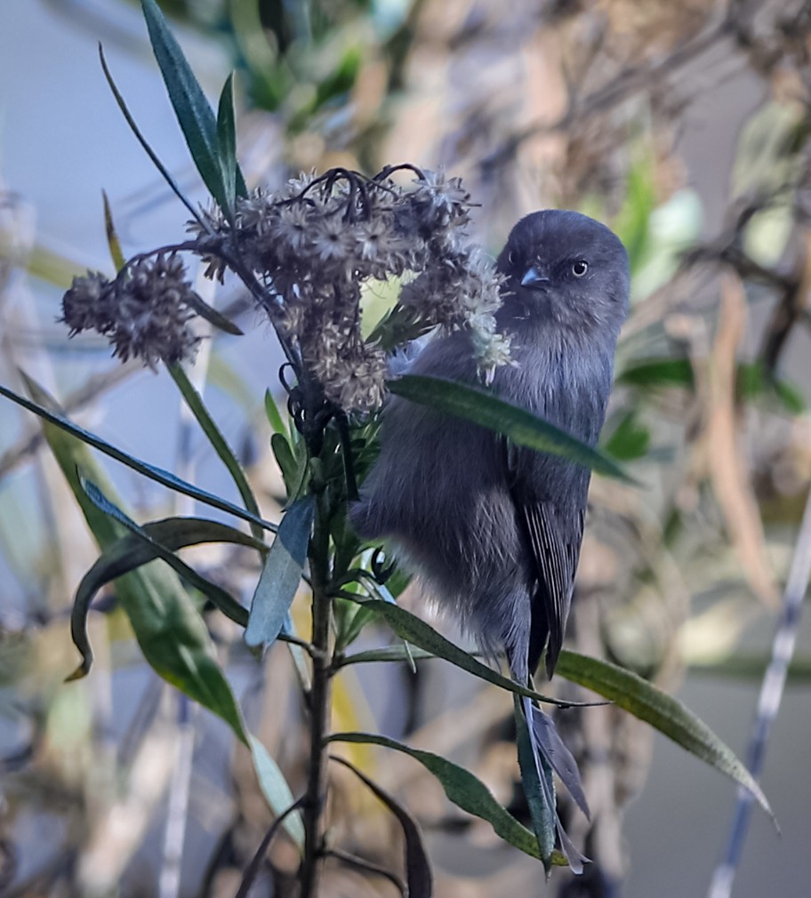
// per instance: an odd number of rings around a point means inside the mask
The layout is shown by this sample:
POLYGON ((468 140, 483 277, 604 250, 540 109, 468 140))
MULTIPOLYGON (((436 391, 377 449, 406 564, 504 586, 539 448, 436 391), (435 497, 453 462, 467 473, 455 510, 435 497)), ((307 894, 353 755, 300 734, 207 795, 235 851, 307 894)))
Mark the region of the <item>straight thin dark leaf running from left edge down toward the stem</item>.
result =
MULTIPOLYGON (((22 374, 22 372, 21 376, 27 386, 36 386, 36 384, 26 377, 25 374, 22 374)), ((41 390, 38 394, 46 395, 41 390)), ((233 502, 229 502, 227 499, 208 493, 205 489, 198 489, 198 487, 192 486, 192 484, 187 483, 185 480, 176 477, 171 471, 164 471, 163 468, 158 468, 152 464, 142 462, 140 459, 135 458, 135 456, 122 452, 114 445, 110 445, 106 440, 102 440, 101 436, 96 436, 89 430, 85 430, 84 427, 79 427, 77 424, 74 424, 73 421, 66 418, 61 412, 54 411, 53 409, 57 408, 56 404, 50 408, 45 408, 42 404, 27 400, 24 396, 20 396, 18 393, 9 390, 8 387, 4 387, 3 385, 0 385, 0 396, 4 396, 6 399, 16 402, 17 405, 22 406, 23 409, 28 409, 35 415, 39 415, 40 418, 48 421, 48 424, 53 424, 56 427, 65 430, 66 433, 78 437, 83 443, 92 445, 94 449, 98 449, 105 455, 110 455, 110 458, 114 458, 117 462, 126 464, 129 468, 132 468, 133 471, 143 474, 150 480, 156 480, 158 483, 163 484, 164 487, 174 489, 184 496, 195 498, 198 502, 202 502, 204 505, 219 508, 220 511, 225 511, 229 515, 242 518, 243 521, 247 521, 249 524, 259 524, 263 530, 269 530, 272 533, 276 533, 276 524, 271 524, 269 521, 264 521, 256 515, 251 515, 250 512, 245 511, 240 506, 234 505, 233 502)))

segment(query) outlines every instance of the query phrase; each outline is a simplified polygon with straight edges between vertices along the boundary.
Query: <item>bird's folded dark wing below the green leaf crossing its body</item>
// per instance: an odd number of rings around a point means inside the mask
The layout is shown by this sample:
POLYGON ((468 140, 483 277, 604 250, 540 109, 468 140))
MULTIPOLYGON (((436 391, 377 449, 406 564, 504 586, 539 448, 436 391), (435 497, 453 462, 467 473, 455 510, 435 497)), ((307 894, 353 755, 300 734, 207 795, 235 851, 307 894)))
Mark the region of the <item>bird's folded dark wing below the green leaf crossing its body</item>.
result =
POLYGON ((536 462, 536 453, 507 447, 510 492, 535 578, 529 671, 534 671, 546 646, 546 672, 551 677, 569 617, 586 506, 577 495, 571 496, 571 505, 542 495, 529 476, 536 462))

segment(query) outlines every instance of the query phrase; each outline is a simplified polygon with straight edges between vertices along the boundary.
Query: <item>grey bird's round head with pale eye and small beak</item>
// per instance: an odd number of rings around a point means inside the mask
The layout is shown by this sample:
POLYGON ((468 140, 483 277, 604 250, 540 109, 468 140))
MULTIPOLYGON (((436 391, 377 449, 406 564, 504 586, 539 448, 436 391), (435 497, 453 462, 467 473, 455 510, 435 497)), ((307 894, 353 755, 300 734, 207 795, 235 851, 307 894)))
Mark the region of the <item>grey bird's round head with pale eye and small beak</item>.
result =
POLYGON ((525 216, 498 257, 509 318, 619 330, 628 311, 628 253, 605 225, 578 212, 525 216))

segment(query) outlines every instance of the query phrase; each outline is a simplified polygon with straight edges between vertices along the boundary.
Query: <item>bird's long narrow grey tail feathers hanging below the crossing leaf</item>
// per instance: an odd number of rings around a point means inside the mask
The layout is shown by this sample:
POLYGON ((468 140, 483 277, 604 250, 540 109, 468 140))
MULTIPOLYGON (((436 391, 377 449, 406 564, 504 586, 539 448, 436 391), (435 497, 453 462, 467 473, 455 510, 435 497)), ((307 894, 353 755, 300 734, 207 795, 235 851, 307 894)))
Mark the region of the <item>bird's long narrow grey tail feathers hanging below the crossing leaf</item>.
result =
MULTIPOLYGON (((588 858, 575 848, 563 824, 560 823, 552 779, 554 771, 569 790, 569 795, 577 807, 589 817, 577 762, 563 744, 552 718, 544 714, 542 709, 526 696, 520 699, 516 696, 516 724, 521 779, 542 856, 544 858, 551 856, 554 833, 557 831, 560 850, 569 861, 569 868, 573 873, 582 873, 583 864, 588 862, 588 858)), ((544 862, 547 862, 546 859, 544 862)))

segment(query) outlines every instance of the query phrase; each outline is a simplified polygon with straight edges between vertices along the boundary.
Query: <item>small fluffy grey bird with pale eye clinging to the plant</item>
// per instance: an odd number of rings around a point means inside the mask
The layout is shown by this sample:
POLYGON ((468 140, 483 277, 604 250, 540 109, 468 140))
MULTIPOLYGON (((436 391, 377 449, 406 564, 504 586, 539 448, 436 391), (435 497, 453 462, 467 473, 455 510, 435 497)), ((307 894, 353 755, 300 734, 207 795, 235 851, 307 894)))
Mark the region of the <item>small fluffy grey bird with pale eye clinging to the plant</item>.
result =
MULTIPOLYGON (((490 388, 595 445, 628 309, 625 248, 591 218, 546 210, 513 228, 498 270, 505 276, 498 330, 510 340, 512 362, 498 367, 490 388)), ((408 372, 481 381, 463 331, 429 341, 408 372)), ((390 541, 454 620, 485 652, 503 650, 525 683, 544 649, 550 677, 557 663, 589 477, 560 456, 393 397, 351 520, 362 536, 390 541)), ((577 767, 572 784, 566 769, 574 761, 551 718, 529 700, 523 707, 536 764, 540 752, 586 810, 577 767)))

